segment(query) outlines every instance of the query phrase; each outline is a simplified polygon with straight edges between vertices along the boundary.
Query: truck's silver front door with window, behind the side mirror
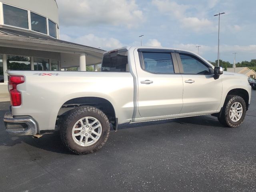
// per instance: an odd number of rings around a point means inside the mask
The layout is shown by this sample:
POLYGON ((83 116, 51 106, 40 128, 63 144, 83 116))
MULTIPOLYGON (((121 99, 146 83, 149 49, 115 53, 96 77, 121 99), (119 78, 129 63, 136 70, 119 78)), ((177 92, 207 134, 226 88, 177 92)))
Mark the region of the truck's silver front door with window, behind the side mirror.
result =
POLYGON ((218 109, 222 97, 222 76, 214 79, 214 70, 198 56, 184 51, 176 54, 183 72, 183 107, 181 114, 218 109))

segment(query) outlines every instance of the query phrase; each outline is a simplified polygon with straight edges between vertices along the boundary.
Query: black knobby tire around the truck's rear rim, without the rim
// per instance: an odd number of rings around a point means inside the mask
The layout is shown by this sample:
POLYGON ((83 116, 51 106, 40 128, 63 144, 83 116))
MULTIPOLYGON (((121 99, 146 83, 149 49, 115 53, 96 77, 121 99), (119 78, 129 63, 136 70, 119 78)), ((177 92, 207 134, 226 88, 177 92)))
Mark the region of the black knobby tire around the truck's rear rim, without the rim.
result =
MULTIPOLYGON (((82 127, 82 125, 81 125, 82 127)), ((64 117, 60 124, 60 138, 71 152, 75 154, 89 154, 96 152, 107 142, 110 134, 110 123, 107 116, 98 108, 92 106, 80 106, 76 107, 64 117), (76 123, 85 117, 95 118, 101 124, 101 134, 98 140, 90 146, 81 146, 75 142, 72 133, 76 123)), ((78 136, 79 138, 79 136, 78 136)))

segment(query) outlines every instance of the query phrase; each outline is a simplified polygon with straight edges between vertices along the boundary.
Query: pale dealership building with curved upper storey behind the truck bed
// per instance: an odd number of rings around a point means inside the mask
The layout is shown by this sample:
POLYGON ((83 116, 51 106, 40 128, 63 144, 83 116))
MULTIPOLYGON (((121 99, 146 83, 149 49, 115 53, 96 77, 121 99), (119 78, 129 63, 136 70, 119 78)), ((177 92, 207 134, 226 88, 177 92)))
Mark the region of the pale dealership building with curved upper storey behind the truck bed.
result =
POLYGON ((60 40, 56 0, 0 0, 0 94, 6 70, 52 70, 101 64, 104 50, 60 40))

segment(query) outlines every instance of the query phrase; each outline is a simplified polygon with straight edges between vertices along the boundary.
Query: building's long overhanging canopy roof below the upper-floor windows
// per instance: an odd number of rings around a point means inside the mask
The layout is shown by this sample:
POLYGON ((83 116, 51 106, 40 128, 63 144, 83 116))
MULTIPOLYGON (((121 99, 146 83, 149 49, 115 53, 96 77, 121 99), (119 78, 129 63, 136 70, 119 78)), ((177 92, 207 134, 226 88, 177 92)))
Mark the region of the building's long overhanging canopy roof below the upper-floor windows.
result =
MULTIPOLYGON (((86 65, 100 63, 105 52, 105 50, 99 48, 55 39, 38 32, 2 25, 0 25, 0 46, 60 52, 61 54, 69 54, 70 56, 74 54, 86 54, 86 65)), ((62 62, 65 65, 65 61, 62 62)), ((74 64, 74 66, 79 66, 79 63, 74 64)))

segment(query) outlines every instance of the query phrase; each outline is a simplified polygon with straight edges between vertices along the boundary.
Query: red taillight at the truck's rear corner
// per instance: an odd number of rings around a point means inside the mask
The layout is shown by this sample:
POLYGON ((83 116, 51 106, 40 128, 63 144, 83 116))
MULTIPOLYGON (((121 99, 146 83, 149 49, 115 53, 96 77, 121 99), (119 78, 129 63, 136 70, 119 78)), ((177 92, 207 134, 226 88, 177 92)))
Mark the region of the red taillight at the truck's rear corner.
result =
POLYGON ((17 90, 17 85, 24 82, 24 76, 9 76, 9 91, 12 106, 21 105, 21 93, 17 90))

